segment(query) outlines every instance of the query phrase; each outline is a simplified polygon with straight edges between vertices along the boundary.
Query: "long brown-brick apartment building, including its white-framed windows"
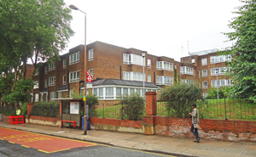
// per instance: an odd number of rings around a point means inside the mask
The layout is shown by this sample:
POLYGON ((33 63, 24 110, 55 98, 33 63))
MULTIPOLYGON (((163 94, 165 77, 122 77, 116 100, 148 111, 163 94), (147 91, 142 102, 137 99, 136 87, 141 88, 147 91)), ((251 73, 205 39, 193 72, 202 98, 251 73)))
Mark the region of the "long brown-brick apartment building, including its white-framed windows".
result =
MULTIPOLYGON (((207 93, 210 87, 229 86, 231 82, 222 72, 230 56, 217 56, 216 50, 191 53, 181 62, 104 42, 92 42, 86 50, 86 71, 93 76, 92 86, 86 87, 86 91, 100 100, 116 100, 131 93, 143 96, 143 65, 145 91, 159 91, 161 87, 181 82, 197 84, 207 93)), ((34 76, 34 101, 83 94, 85 74, 84 45, 70 49, 52 64, 40 64, 34 76)))

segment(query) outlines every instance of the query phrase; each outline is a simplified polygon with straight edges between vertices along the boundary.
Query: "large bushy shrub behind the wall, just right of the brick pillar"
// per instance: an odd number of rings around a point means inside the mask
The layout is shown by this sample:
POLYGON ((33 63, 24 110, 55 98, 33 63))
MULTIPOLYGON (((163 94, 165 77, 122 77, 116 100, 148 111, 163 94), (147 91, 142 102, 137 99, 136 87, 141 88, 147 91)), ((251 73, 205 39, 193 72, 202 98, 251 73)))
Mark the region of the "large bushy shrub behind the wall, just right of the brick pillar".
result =
POLYGON ((167 102, 166 109, 173 116, 189 116, 191 104, 202 99, 202 89, 194 85, 175 85, 162 89, 160 98, 167 102))

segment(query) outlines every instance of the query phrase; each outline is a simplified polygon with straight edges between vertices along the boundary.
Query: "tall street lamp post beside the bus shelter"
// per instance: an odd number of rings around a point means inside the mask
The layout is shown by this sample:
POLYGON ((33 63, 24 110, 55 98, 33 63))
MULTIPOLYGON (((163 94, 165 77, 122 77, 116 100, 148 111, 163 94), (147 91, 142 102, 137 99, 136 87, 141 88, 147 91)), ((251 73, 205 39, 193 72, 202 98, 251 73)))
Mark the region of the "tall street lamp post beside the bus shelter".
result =
MULTIPOLYGON (((69 5, 69 8, 84 13, 84 96, 86 96, 86 13, 73 4, 69 5)), ((86 100, 84 101, 84 135, 87 135, 86 100)))

